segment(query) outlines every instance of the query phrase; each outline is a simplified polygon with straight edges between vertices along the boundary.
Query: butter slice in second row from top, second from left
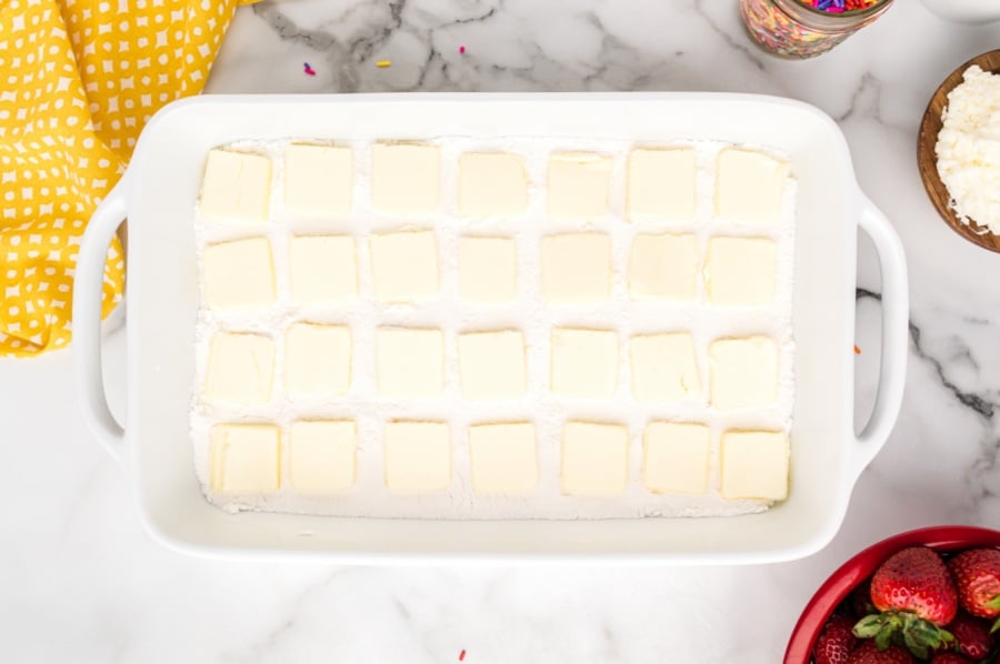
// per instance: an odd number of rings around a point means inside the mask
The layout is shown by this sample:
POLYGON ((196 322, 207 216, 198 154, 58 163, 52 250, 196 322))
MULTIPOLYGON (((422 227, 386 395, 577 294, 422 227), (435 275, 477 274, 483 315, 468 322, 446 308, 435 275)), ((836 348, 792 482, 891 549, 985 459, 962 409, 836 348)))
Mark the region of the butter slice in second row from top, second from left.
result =
POLYGON ((348 235, 293 235, 289 280, 297 304, 352 300, 358 294, 354 240, 348 235))

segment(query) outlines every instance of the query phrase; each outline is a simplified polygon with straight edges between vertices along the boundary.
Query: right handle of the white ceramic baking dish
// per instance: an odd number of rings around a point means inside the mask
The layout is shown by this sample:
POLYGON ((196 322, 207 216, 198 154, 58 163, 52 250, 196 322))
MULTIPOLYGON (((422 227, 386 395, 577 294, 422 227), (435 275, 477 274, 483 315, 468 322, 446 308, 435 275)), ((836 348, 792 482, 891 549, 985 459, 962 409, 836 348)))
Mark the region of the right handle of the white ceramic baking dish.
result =
POLYGON ((861 200, 859 227, 871 238, 879 254, 882 272, 882 352, 879 389, 868 423, 853 445, 852 465, 856 476, 864 470, 886 444, 902 406, 907 382, 910 303, 907 285, 907 256, 896 229, 867 195, 861 200))

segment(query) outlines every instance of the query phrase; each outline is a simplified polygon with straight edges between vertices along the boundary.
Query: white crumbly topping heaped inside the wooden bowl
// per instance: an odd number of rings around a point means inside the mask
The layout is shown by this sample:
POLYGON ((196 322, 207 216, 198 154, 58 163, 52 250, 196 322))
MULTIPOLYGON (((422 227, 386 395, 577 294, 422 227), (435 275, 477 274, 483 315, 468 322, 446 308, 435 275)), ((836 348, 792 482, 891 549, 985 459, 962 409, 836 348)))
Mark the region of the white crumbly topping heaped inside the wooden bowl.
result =
POLYGON ((962 79, 941 114, 938 173, 962 223, 1000 233, 1000 74, 973 64, 962 79))

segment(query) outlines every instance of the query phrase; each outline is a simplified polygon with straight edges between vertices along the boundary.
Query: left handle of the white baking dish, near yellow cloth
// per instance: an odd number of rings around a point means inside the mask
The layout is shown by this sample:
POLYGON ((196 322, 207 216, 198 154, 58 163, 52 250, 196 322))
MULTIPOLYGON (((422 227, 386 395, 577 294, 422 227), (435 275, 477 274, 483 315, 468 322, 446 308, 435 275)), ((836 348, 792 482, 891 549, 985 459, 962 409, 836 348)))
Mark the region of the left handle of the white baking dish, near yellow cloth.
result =
POLYGON ((111 414, 101 369, 101 300, 108 245, 126 219, 126 177, 114 185, 90 218, 73 279, 73 383, 83 420, 108 453, 121 461, 124 429, 111 414))

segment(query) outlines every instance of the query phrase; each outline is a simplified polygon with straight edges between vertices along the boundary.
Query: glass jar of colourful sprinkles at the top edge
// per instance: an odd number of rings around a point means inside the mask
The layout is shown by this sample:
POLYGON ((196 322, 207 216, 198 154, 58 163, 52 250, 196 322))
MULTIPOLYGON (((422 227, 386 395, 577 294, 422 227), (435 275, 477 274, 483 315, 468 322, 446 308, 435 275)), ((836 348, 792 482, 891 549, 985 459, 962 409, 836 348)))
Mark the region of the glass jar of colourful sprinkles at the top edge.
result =
POLYGON ((740 0, 747 32, 763 50, 812 58, 882 16, 892 0, 740 0))

